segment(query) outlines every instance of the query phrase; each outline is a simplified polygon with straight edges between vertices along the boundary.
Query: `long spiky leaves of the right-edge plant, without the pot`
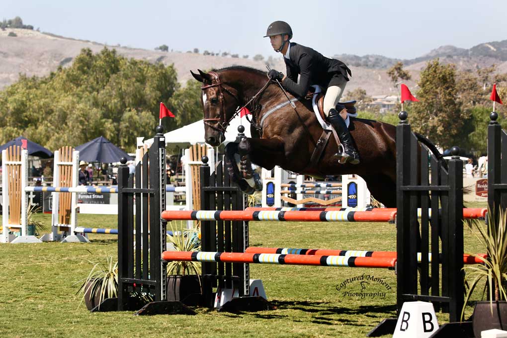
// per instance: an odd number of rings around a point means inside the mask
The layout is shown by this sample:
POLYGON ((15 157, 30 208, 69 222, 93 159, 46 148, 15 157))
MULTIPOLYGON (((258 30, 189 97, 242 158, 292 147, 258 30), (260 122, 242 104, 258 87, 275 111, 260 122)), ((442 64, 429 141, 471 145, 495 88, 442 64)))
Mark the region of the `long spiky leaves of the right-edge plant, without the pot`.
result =
MULTIPOLYGON (((483 289, 482 297, 489 290, 490 308, 493 312, 493 301, 498 302, 507 299, 505 290, 505 281, 507 281, 507 209, 498 212, 498 218, 495 213, 488 209, 489 232, 481 221, 474 219, 472 226, 475 226, 479 232, 474 233, 479 241, 486 248, 487 257, 470 253, 481 260, 481 264, 469 265, 463 268, 465 271, 465 283, 468 290, 465 296, 461 318, 463 318, 466 303, 481 280, 486 278, 486 284, 483 289), (494 291, 494 293, 493 293, 494 291)), ((465 222, 466 224, 466 222, 465 222)))

